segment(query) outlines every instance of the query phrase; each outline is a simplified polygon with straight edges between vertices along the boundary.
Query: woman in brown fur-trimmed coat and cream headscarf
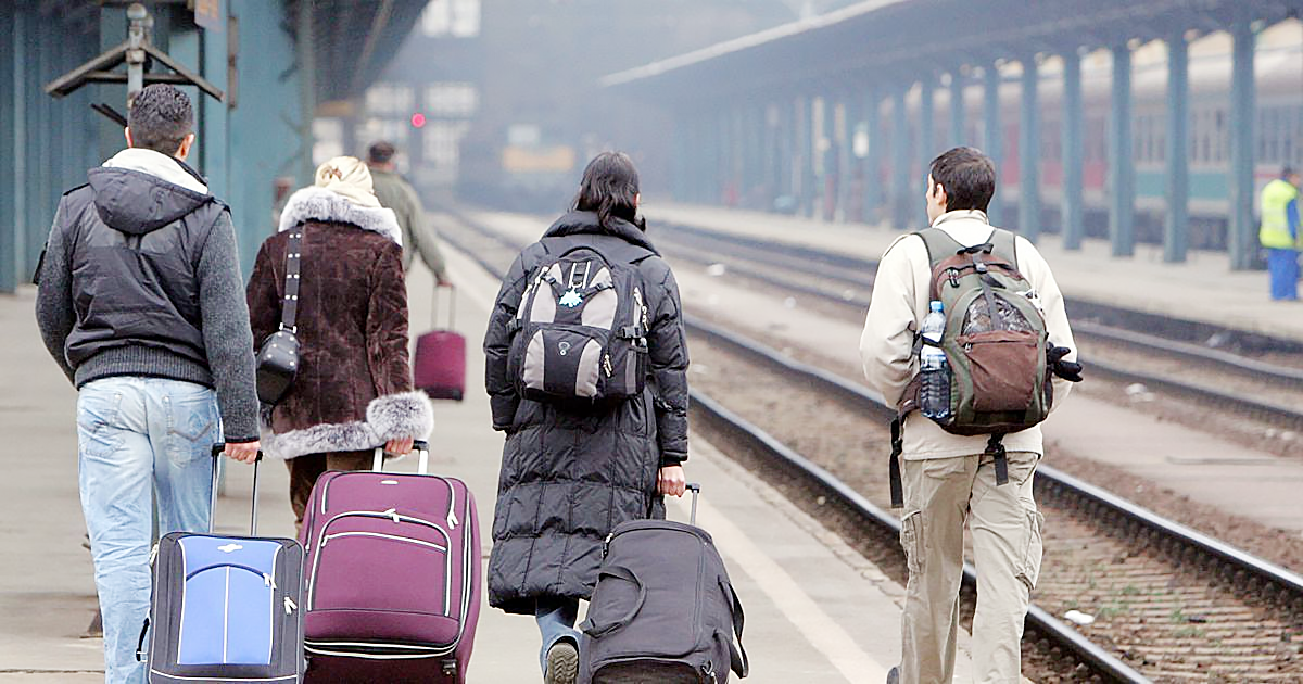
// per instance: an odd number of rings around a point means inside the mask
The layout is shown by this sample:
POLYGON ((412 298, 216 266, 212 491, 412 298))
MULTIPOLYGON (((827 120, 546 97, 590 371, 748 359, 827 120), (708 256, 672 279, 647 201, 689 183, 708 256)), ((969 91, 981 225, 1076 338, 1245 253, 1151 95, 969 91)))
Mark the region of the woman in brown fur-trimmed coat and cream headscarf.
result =
POLYGON ((370 468, 379 446, 407 453, 434 420, 425 393, 412 391, 401 233, 375 199, 366 164, 331 159, 315 185, 289 197, 249 280, 257 345, 280 327, 292 232, 302 236, 298 374, 275 406, 263 406, 262 448, 289 465, 301 525, 322 473, 370 468))

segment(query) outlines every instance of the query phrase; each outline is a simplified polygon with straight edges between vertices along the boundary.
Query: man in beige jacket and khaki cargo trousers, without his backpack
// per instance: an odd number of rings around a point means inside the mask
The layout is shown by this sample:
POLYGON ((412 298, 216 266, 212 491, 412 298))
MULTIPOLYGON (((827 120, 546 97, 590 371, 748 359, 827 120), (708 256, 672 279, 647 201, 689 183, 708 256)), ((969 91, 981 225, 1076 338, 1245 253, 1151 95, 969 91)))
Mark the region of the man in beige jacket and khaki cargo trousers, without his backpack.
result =
MULTIPOLYGON (((986 205, 995 192, 995 168, 971 147, 956 147, 932 162, 928 175, 928 219, 963 246, 988 242, 993 228, 986 205)), ((1015 240, 1018 270, 1033 288, 1032 300, 1045 315, 1049 339, 1072 349, 1055 371, 1080 379, 1076 352, 1063 310, 1063 296, 1045 259, 1029 241, 1015 240)), ((878 263, 860 358, 869 382, 898 404, 919 373, 915 335, 928 314, 932 280, 923 238, 896 240, 878 263)), ((1054 405, 1071 383, 1054 379, 1054 405)), ((1032 498, 1032 477, 1041 457, 1040 426, 1005 436, 1009 482, 995 483, 986 435, 943 431, 921 413, 904 422, 902 479, 904 511, 900 543, 909 581, 900 620, 900 667, 887 681, 949 683, 954 675, 959 631, 959 585, 963 575, 964 524, 972 529, 979 575, 973 616, 973 681, 1016 683, 1020 679, 1023 619, 1041 567, 1041 522, 1032 498)))

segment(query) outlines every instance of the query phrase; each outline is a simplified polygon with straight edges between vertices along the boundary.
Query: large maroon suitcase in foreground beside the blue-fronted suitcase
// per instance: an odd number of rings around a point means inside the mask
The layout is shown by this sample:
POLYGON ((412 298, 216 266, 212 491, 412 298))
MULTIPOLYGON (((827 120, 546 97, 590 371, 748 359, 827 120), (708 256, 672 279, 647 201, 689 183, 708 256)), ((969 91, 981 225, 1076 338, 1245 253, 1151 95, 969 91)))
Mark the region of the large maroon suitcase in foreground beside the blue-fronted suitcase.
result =
POLYGON ((466 680, 480 620, 480 526, 460 479, 330 472, 313 487, 304 646, 318 683, 466 680))

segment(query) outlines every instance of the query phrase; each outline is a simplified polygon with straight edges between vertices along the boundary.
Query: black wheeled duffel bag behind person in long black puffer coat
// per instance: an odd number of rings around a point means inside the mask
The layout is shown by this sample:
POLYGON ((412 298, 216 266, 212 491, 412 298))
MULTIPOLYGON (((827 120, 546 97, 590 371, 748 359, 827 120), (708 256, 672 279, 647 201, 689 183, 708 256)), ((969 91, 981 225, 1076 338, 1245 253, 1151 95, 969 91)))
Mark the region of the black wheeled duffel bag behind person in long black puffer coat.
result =
MULTIPOLYGON (((700 487, 688 486, 693 496, 700 487)), ((696 522, 696 500, 693 500, 696 522)), ((666 520, 615 528, 580 624, 580 684, 724 684, 745 677, 743 610, 710 533, 666 520)))

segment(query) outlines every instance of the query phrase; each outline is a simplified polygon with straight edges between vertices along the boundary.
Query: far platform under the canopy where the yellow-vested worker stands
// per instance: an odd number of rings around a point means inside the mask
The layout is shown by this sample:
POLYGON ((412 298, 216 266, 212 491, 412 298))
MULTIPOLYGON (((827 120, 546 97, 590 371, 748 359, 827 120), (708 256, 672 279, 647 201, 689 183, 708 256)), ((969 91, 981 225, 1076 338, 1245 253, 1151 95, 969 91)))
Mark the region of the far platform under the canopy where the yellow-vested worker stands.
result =
MULTIPOLYGON (((877 261, 902 235, 885 225, 829 223, 800 216, 705 205, 648 203, 648 216, 666 223, 745 235, 877 261)), ((924 228, 919 197, 919 228, 924 228)), ((1265 271, 1231 271, 1224 251, 1191 250, 1186 263, 1165 263, 1161 245, 1138 244, 1131 258, 1114 258, 1104 240, 1066 250, 1057 235, 1036 248, 1054 268, 1065 296, 1135 311, 1174 315, 1303 343, 1303 305, 1273 302, 1265 271)))

